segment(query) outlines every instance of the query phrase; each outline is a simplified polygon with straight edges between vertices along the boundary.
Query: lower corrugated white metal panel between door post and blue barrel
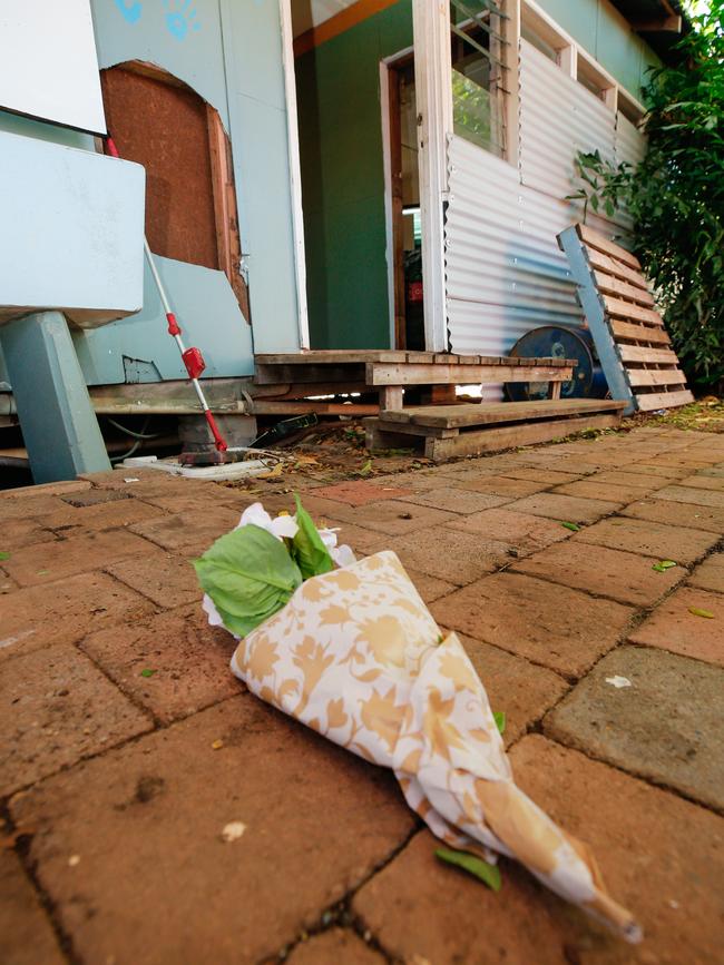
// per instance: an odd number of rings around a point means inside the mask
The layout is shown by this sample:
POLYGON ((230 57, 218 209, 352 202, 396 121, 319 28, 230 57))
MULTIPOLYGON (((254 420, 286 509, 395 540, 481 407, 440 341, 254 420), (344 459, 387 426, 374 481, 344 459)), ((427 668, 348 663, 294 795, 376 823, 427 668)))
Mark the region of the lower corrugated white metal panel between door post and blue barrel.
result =
POLYGON ((448 323, 453 352, 505 354, 530 328, 581 315, 556 235, 569 201, 519 183, 489 151, 449 139, 446 225, 448 323))

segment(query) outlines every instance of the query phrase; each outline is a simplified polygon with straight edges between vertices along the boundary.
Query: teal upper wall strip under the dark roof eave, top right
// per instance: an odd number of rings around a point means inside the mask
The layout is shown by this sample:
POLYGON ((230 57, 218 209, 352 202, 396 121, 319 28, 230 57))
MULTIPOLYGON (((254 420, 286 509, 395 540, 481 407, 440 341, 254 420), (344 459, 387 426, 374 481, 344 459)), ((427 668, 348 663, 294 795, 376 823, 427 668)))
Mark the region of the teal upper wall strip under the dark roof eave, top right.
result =
POLYGON ((574 40, 640 100, 646 70, 661 60, 608 0, 538 0, 574 40))

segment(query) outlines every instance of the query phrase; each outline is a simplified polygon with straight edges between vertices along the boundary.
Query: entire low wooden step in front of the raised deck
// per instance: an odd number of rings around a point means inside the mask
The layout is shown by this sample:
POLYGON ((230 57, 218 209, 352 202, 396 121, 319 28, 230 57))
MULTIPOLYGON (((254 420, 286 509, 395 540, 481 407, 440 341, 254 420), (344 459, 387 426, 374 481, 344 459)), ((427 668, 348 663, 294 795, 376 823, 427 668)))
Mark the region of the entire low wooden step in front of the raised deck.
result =
POLYGON ((541 400, 459 405, 422 405, 383 411, 365 419, 368 449, 423 441, 433 462, 531 445, 620 423, 626 403, 603 398, 541 400))

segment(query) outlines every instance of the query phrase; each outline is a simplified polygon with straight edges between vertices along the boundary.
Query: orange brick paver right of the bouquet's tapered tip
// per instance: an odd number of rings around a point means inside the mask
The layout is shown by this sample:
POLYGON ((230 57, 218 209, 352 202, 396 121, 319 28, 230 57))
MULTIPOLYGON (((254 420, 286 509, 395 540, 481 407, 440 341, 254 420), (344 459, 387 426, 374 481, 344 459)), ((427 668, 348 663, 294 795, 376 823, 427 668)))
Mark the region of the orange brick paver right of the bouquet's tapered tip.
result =
POLYGON ((539 736, 526 737, 511 758, 521 788, 590 845, 604 880, 645 933, 642 945, 626 947, 578 918, 561 963, 715 965, 722 818, 539 736))

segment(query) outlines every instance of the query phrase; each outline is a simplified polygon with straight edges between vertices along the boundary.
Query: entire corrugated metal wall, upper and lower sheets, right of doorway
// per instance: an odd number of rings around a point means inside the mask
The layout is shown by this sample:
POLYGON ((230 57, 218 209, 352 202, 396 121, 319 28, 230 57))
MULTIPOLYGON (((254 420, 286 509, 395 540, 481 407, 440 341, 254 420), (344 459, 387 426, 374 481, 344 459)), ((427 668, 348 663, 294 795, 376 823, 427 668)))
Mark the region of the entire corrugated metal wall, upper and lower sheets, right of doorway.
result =
MULTIPOLYGON (((575 190, 575 154, 598 149, 609 160, 634 161, 644 150, 634 125, 525 40, 520 61, 519 168, 454 135, 448 142, 453 352, 505 354, 530 328, 581 321, 556 243, 580 218, 580 207, 566 200, 575 190)), ((590 213, 588 223, 607 227, 590 213)))

